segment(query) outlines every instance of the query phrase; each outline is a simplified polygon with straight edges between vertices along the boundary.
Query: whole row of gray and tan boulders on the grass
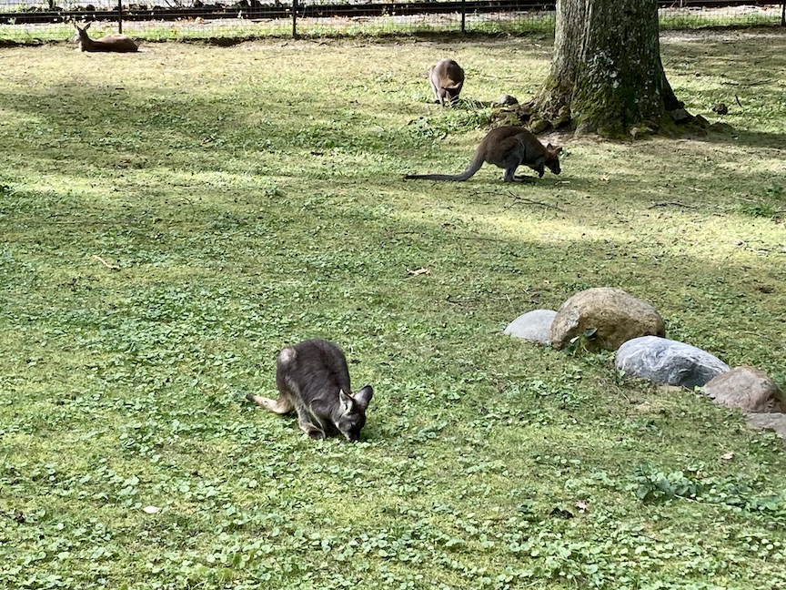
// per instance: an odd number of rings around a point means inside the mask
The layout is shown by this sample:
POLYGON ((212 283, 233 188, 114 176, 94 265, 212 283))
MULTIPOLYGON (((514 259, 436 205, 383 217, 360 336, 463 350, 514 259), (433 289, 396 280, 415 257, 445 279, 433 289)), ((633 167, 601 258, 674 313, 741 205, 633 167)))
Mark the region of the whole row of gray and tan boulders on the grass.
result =
POLYGON ((617 351, 616 368, 626 376, 662 385, 701 387, 716 403, 745 412, 748 422, 786 438, 786 396, 754 367, 730 369, 710 352, 665 338, 655 308, 621 289, 594 288, 566 300, 558 311, 520 315, 504 333, 562 350, 617 351))

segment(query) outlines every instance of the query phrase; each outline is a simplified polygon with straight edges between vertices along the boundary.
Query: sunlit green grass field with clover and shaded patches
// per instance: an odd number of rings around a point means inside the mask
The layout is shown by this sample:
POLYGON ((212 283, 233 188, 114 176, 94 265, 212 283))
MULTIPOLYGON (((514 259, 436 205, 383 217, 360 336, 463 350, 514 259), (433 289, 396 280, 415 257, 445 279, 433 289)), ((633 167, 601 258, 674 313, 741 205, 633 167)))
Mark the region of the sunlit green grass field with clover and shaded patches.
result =
POLYGON ((781 439, 500 333, 620 287, 786 384, 786 36, 664 38, 726 132, 552 137, 562 175, 523 186, 402 179, 463 169, 550 48, 0 50, 0 586, 786 584, 781 439), (455 109, 422 76, 442 56, 455 109), (375 387, 357 444, 243 400, 308 337, 375 387))

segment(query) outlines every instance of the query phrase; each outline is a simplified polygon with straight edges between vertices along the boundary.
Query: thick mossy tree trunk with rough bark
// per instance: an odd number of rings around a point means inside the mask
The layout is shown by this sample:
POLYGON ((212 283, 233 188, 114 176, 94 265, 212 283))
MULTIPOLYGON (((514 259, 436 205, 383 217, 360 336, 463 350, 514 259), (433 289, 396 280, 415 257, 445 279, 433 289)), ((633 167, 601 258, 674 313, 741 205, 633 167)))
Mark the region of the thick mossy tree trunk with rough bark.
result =
POLYGON ((660 62, 657 0, 557 0, 551 72, 533 118, 621 136, 681 107, 660 62))

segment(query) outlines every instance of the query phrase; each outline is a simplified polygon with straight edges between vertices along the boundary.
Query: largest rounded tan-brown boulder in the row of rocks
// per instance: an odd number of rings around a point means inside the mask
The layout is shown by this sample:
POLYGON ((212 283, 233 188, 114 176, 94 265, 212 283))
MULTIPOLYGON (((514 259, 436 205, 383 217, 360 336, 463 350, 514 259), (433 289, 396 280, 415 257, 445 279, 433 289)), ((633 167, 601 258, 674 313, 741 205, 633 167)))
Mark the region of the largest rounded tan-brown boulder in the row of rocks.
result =
POLYGON ((666 334, 663 319, 649 303, 621 289, 597 287, 576 293, 562 304, 551 322, 551 346, 563 349, 593 329, 593 339, 585 342, 591 351, 616 351, 631 338, 666 334))

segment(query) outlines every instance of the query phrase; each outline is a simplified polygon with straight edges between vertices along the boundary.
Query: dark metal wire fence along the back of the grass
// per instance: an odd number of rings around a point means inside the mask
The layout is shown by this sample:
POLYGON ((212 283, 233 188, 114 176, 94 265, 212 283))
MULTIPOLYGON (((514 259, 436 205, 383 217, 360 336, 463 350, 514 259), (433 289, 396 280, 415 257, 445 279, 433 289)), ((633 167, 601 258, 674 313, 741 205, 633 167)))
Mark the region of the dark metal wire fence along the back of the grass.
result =
MULTIPOLYGON (((73 22, 146 39, 261 36, 516 34, 552 30, 553 0, 0 0, 0 41, 61 40, 73 22)), ((660 0, 664 28, 786 25, 780 5, 735 0, 660 0)))

